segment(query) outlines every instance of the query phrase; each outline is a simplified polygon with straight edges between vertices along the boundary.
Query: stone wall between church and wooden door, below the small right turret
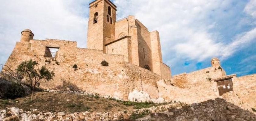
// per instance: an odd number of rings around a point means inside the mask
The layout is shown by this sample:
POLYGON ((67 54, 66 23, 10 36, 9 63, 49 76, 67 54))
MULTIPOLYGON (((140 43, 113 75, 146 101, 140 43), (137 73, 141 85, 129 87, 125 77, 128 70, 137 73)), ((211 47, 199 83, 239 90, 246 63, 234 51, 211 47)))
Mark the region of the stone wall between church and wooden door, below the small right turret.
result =
MULTIPOLYGON (((205 98, 209 97, 213 99, 219 97, 219 90, 217 88, 217 83, 212 81, 212 79, 221 76, 222 70, 215 69, 215 67, 208 67, 188 74, 173 76, 172 79, 175 86, 183 89, 185 88, 190 92, 195 92, 195 97, 199 96, 204 99, 205 96, 205 98)), ((193 96, 190 99, 194 99, 193 96)))

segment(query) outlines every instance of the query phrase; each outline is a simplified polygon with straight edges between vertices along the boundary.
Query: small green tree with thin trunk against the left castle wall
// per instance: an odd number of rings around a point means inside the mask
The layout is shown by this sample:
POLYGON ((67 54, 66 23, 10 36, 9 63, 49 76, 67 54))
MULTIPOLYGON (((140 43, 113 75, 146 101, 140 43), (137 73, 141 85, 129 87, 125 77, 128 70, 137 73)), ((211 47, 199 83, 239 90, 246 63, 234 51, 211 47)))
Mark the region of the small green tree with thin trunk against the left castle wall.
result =
POLYGON ((26 83, 30 86, 32 93, 35 90, 35 87, 41 80, 53 80, 55 74, 53 71, 49 71, 45 66, 41 68, 38 67, 36 61, 23 61, 18 68, 16 69, 17 73, 26 80, 26 83))

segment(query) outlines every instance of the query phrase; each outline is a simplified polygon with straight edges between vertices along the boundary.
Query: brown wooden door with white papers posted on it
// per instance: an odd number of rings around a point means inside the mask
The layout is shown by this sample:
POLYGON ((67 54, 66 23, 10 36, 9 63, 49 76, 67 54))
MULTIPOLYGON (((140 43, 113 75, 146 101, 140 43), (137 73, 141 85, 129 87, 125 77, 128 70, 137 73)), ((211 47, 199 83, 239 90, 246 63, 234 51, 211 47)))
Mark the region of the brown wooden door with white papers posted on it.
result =
POLYGON ((218 88, 219 88, 219 96, 229 91, 233 91, 233 83, 232 79, 218 81, 218 88))

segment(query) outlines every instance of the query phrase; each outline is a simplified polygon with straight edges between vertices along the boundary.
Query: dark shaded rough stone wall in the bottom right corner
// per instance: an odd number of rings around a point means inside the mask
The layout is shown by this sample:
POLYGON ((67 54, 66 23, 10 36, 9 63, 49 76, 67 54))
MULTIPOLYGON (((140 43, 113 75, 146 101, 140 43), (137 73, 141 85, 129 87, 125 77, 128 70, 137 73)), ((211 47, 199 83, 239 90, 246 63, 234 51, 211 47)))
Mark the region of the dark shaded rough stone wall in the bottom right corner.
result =
POLYGON ((163 113, 152 113, 150 121, 255 121, 256 115, 223 99, 208 100, 172 108, 163 113))

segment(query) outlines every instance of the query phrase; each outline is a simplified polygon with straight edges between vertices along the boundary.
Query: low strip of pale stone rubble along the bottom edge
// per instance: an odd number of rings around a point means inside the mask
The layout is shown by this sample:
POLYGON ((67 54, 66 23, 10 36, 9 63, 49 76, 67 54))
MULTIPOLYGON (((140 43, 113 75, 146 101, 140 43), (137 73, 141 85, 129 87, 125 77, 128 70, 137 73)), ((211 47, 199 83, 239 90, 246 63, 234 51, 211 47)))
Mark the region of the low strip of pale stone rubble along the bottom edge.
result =
POLYGON ((113 121, 120 119, 129 119, 132 113, 140 114, 148 110, 150 113, 157 113, 168 110, 170 107, 182 106, 181 103, 172 103, 162 106, 153 106, 147 109, 137 109, 131 112, 77 112, 77 113, 65 113, 65 112, 39 112, 38 114, 33 114, 37 109, 31 109, 31 111, 23 111, 19 108, 7 108, 7 110, 0 110, 0 121, 6 121, 9 119, 9 114, 11 116, 17 116, 20 121, 32 121, 35 119, 43 119, 45 121, 113 121))

